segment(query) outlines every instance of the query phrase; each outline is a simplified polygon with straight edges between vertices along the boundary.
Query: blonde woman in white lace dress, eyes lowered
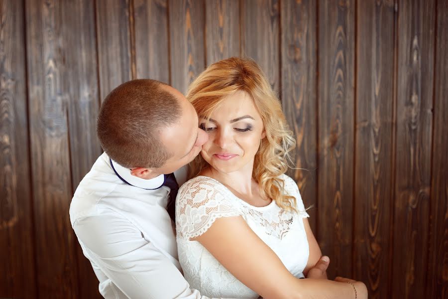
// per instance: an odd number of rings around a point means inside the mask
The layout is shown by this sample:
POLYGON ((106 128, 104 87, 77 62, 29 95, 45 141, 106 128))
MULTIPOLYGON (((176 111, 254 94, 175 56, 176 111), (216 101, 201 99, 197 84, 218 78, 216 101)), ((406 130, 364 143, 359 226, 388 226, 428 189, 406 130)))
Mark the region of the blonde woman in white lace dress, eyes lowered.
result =
POLYGON ((285 175, 295 140, 258 65, 217 62, 187 98, 209 134, 176 202, 179 260, 191 287, 209 297, 366 298, 360 282, 298 279, 322 254, 285 175))

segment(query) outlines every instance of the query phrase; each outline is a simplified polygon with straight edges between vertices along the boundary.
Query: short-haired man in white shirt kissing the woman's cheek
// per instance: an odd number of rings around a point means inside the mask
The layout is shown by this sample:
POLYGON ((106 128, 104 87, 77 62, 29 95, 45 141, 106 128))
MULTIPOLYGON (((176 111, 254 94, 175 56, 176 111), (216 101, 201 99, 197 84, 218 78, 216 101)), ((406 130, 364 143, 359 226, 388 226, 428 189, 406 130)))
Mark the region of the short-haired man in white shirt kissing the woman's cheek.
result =
MULTIPOLYGON (((101 295, 207 299, 181 274, 172 222, 182 166, 208 140, 193 106, 168 85, 132 80, 106 97, 97 131, 105 152, 80 182, 70 220, 101 295)), ((324 275, 328 262, 318 266, 324 275)))

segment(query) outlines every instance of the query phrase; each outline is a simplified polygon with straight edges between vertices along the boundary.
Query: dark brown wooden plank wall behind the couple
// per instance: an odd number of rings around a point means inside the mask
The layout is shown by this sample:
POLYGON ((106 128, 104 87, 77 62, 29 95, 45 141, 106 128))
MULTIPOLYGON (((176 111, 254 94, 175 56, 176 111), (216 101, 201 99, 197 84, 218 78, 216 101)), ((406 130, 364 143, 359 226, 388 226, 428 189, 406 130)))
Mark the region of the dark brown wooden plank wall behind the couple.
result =
POLYGON ((72 194, 118 84, 255 59, 330 278, 448 298, 447 0, 0 0, 0 298, 100 298, 72 194))

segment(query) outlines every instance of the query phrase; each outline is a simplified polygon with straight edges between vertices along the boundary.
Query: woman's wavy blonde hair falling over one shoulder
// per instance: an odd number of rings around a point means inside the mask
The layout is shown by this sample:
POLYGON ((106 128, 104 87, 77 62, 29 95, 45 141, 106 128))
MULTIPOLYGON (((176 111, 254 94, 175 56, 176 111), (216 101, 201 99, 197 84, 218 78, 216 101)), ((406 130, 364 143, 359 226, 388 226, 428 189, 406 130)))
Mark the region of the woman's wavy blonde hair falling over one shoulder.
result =
MULTIPOLYGON (((224 98, 237 91, 246 92, 253 100, 266 132, 255 154, 252 177, 260 185, 262 195, 272 198, 286 210, 297 211, 296 198, 285 194, 285 182, 279 178, 292 162, 290 151, 296 147, 296 140, 261 68, 251 59, 237 57, 216 62, 193 81, 187 99, 199 117, 209 119, 224 98)), ((198 155, 190 163, 190 177, 207 166, 204 158, 198 155)))

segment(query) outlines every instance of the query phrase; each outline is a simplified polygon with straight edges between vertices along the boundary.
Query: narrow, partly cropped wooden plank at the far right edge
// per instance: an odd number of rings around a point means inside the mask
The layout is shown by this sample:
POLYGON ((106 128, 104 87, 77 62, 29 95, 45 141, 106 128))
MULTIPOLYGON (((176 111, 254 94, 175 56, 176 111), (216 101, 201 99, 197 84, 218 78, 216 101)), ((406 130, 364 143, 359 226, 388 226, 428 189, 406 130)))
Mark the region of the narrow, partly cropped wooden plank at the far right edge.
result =
POLYGON ((428 298, 448 298, 448 1, 437 1, 428 298))

